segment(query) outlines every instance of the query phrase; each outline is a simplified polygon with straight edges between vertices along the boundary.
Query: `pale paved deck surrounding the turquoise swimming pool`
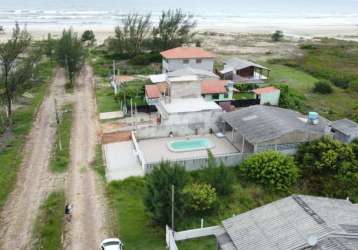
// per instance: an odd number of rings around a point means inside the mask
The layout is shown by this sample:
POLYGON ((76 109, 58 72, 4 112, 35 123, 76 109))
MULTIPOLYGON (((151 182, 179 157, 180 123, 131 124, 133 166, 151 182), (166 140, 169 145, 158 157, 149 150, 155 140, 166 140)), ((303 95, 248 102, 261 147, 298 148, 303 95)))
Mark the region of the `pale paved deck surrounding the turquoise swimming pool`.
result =
POLYGON ((190 137, 175 137, 175 138, 157 138, 139 140, 139 148, 141 149, 144 159, 148 163, 160 162, 162 160, 181 160, 190 158, 207 157, 207 150, 196 150, 186 152, 172 152, 168 148, 168 143, 177 140, 186 140, 194 138, 205 138, 210 140, 215 146, 211 148, 213 155, 235 154, 238 150, 231 145, 226 138, 218 138, 215 135, 201 135, 190 137))

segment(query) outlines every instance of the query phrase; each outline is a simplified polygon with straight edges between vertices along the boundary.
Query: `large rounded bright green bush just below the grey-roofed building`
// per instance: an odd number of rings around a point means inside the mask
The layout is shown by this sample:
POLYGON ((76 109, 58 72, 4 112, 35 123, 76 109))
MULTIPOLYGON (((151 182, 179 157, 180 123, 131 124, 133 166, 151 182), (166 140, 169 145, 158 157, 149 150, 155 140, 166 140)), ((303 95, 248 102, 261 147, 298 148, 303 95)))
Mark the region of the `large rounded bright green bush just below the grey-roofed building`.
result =
POLYGON ((286 191, 299 175, 293 158, 276 151, 252 155, 239 169, 249 179, 275 191, 286 191))

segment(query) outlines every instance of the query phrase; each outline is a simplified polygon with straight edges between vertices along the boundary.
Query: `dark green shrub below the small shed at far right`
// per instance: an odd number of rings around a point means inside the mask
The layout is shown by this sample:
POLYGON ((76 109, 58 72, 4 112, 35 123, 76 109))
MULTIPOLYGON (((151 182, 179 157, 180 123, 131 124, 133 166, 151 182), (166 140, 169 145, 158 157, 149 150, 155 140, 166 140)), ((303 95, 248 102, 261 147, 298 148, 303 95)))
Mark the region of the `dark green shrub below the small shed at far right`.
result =
POLYGON ((307 175, 335 175, 345 172, 345 164, 354 162, 355 156, 349 145, 325 136, 303 144, 297 152, 297 160, 307 175))

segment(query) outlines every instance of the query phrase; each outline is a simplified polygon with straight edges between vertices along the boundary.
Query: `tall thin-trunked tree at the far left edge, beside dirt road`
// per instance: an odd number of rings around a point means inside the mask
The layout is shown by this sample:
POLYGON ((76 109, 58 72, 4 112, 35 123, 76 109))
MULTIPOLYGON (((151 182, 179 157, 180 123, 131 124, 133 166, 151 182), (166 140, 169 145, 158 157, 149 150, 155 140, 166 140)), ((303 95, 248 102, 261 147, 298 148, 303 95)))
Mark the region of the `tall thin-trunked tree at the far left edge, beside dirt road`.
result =
POLYGON ((1 65, 1 85, 4 88, 7 115, 11 121, 12 101, 21 82, 13 82, 12 78, 21 72, 22 67, 18 65, 23 61, 25 53, 29 49, 31 36, 27 30, 21 29, 18 24, 12 31, 12 37, 5 43, 0 44, 0 65, 1 65))

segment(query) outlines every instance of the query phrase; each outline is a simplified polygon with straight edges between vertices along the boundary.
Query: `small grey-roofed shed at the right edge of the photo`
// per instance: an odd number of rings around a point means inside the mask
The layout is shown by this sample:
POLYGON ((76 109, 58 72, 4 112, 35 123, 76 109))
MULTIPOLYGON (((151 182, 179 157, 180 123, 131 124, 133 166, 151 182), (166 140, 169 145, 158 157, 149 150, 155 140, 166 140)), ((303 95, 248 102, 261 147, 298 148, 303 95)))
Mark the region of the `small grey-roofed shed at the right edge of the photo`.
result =
POLYGON ((358 138, 358 123, 342 119, 332 123, 333 138, 344 143, 350 143, 358 138))

